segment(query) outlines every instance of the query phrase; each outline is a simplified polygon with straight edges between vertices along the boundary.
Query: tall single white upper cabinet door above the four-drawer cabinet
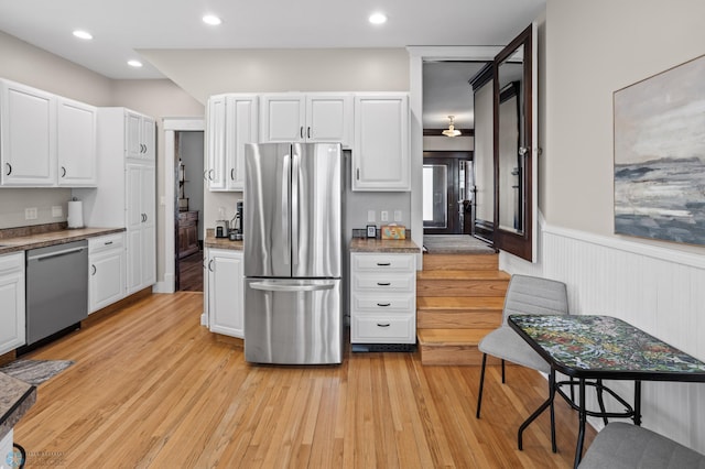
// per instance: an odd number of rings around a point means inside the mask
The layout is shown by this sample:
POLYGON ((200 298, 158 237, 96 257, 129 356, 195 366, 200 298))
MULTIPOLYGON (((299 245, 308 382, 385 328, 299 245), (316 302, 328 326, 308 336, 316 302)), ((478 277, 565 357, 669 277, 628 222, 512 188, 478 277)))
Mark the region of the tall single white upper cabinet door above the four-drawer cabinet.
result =
POLYGON ((357 95, 352 190, 410 190, 408 96, 357 95))

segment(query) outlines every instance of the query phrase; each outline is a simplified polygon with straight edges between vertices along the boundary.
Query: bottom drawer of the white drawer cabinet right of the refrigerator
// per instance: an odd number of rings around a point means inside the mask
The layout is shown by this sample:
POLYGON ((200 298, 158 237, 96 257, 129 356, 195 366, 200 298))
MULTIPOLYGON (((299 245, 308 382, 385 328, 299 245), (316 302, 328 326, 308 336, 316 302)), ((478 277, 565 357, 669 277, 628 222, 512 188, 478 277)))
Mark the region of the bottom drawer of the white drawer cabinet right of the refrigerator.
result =
POLYGON ((414 343, 416 324, 409 316, 362 316, 354 317, 351 341, 358 343, 414 343))

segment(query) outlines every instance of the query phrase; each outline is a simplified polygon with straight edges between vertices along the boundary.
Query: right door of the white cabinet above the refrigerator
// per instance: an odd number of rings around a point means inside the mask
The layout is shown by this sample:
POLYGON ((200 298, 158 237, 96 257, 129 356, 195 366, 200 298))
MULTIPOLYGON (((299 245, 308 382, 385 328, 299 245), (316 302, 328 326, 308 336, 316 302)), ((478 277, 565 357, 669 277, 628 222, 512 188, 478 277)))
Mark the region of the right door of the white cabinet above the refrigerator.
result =
POLYGON ((352 143, 352 96, 306 96, 306 141, 352 143))

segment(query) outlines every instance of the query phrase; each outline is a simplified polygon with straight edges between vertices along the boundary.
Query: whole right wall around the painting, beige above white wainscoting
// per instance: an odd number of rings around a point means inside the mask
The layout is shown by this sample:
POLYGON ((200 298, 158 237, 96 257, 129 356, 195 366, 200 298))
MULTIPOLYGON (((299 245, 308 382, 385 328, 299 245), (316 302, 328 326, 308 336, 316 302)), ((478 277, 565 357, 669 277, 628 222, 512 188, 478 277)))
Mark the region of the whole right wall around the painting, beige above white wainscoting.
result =
MULTIPOLYGON (((573 314, 606 314, 705 360, 705 249, 612 233, 612 94, 705 53, 705 2, 547 0, 540 64, 540 262, 573 314)), ((611 382, 631 401, 630 383, 611 382)), ((705 384, 644 383, 643 426, 705 452, 705 384)), ((596 425, 601 426, 600 422, 596 425)))

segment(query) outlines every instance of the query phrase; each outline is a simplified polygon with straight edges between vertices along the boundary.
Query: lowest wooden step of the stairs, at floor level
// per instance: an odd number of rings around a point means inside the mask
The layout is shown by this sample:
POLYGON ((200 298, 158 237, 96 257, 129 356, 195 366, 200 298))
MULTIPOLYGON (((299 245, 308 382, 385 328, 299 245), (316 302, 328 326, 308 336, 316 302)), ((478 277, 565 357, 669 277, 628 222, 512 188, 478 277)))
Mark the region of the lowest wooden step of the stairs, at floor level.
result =
MULTIPOLYGON (((480 366, 482 353, 477 345, 492 329, 419 329, 421 363, 443 366, 480 366)), ((499 363, 488 357, 488 364, 499 363)))

